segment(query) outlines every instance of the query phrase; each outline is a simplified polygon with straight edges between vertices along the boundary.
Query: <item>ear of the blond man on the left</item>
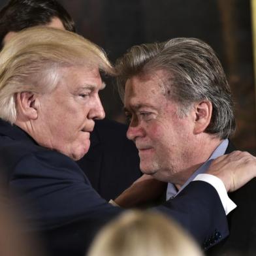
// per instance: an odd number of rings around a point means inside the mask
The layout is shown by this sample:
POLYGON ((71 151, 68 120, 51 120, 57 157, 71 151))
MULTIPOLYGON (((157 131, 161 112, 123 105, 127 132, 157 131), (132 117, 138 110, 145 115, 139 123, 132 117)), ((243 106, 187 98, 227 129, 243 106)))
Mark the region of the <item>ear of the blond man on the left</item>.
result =
POLYGON ((16 94, 18 116, 25 120, 36 120, 38 117, 37 95, 30 91, 16 94))

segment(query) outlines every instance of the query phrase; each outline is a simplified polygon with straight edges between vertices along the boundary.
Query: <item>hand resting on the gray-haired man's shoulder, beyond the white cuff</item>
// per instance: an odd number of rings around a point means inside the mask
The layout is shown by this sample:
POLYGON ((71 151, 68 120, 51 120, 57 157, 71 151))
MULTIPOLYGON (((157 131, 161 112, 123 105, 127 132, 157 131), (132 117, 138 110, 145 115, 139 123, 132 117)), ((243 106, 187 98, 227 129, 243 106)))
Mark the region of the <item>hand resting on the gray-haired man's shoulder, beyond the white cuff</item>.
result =
POLYGON ((248 152, 234 151, 217 157, 207 171, 220 178, 228 192, 239 189, 256 176, 256 157, 248 152))

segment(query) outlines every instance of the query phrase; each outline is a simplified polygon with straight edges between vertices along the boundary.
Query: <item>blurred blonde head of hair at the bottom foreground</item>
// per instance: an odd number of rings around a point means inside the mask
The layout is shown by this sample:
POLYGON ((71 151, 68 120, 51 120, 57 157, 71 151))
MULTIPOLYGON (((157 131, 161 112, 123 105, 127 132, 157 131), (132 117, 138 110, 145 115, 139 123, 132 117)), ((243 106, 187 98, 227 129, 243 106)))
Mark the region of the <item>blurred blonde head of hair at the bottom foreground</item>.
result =
POLYGON ((157 212, 130 211, 106 225, 88 256, 202 256, 195 242, 157 212))

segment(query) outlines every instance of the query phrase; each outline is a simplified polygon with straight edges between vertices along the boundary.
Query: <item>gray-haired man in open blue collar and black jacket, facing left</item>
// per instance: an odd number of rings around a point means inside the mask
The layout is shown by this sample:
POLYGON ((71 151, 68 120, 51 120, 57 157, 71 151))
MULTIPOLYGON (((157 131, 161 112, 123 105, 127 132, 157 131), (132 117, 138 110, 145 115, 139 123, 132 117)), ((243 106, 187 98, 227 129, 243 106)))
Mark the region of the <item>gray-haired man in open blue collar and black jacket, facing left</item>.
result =
MULTIPOLYGON (((196 176, 203 177, 213 159, 234 150, 229 137, 236 123, 231 89, 214 50, 198 39, 133 46, 117 61, 118 88, 130 120, 127 136, 136 144, 140 169, 168 182, 166 198, 181 193, 196 176)), ((252 180, 231 199, 231 236, 212 253, 244 253, 256 244, 252 225, 255 197, 252 180), (245 212, 246 211, 246 212, 245 212), (240 239, 237 234, 246 236, 240 239)), ((204 242, 208 249, 216 241, 204 242)))

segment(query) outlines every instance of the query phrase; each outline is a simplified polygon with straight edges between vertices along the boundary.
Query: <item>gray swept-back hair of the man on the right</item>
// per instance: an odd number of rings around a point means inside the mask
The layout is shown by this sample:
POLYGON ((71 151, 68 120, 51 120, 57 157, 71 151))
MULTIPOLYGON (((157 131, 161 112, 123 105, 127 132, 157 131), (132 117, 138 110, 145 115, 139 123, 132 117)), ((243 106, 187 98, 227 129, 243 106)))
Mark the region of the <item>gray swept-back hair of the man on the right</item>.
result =
MULTIPOLYGON (((206 133, 227 138, 236 128, 234 103, 227 78, 214 50, 199 39, 176 38, 167 42, 133 46, 117 60, 117 83, 123 99, 125 83, 136 75, 165 71, 164 93, 179 104, 180 116, 193 103, 212 103, 212 119, 206 133)), ((160 104, 160 103, 159 103, 160 104)))

